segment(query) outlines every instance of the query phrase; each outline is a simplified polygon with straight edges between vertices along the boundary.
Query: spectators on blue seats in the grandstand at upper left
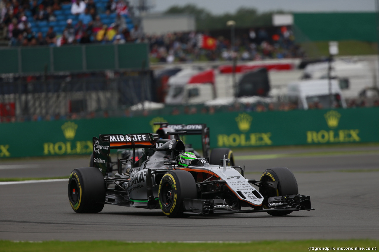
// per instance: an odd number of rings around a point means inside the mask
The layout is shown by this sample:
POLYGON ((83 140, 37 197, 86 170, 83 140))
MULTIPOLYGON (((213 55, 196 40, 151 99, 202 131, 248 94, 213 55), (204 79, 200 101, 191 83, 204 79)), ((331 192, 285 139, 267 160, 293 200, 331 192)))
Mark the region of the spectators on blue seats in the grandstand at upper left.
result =
POLYGON ((0 21, 12 46, 135 40, 125 0, 0 0, 0 21))

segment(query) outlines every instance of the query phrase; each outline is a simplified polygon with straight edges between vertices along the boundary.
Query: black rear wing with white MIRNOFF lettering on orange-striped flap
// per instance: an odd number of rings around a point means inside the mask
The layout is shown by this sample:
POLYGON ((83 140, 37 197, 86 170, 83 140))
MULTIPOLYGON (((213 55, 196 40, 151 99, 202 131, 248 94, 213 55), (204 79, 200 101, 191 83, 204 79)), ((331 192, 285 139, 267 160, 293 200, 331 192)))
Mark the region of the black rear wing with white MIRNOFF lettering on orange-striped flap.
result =
POLYGON ((111 149, 152 148, 156 146, 159 134, 113 134, 99 135, 92 138, 92 153, 94 167, 98 168, 104 176, 110 169, 111 149))

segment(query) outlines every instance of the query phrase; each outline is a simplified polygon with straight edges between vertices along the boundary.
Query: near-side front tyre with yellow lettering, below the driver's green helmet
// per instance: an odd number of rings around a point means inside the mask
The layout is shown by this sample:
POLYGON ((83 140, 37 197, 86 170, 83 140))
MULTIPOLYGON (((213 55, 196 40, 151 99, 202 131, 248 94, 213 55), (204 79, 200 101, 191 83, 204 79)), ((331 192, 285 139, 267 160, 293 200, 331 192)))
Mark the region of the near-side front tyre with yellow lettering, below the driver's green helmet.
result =
POLYGON ((184 199, 196 199, 196 182, 188 171, 174 170, 164 174, 158 188, 159 205, 170 218, 188 217, 183 214, 184 199))

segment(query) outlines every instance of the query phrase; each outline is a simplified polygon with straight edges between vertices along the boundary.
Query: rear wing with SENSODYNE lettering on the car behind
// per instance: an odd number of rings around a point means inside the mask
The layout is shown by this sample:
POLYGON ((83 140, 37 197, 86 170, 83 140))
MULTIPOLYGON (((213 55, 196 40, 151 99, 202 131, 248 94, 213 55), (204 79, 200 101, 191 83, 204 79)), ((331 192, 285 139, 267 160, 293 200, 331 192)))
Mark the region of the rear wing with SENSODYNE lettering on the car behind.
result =
MULTIPOLYGON (((167 131, 171 131, 174 129, 175 131, 186 131, 186 135, 201 135, 202 149, 203 149, 203 157, 206 159, 209 158, 210 151, 210 136, 209 136, 209 127, 207 124, 169 124, 168 122, 162 123, 154 123, 159 124, 162 128, 168 128, 167 131)), ((159 131, 159 129, 158 129, 159 131)), ((157 133, 158 133, 157 131, 157 133)))

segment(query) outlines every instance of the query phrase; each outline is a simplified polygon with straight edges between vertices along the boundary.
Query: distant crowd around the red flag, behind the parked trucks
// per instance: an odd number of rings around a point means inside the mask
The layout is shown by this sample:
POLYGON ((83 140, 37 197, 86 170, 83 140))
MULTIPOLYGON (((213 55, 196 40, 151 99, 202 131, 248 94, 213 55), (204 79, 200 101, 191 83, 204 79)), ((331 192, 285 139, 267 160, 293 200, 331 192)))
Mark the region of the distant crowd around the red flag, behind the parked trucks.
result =
POLYGON ((257 31, 250 29, 245 34, 236 36, 233 48, 229 39, 218 36, 215 38, 215 50, 202 50, 198 43, 199 36, 201 34, 195 32, 168 33, 159 36, 146 35, 140 40, 150 44, 150 59, 153 62, 230 61, 233 57, 251 61, 305 56, 302 48, 294 43, 293 32, 287 26, 278 28, 272 34, 265 28, 257 31))

